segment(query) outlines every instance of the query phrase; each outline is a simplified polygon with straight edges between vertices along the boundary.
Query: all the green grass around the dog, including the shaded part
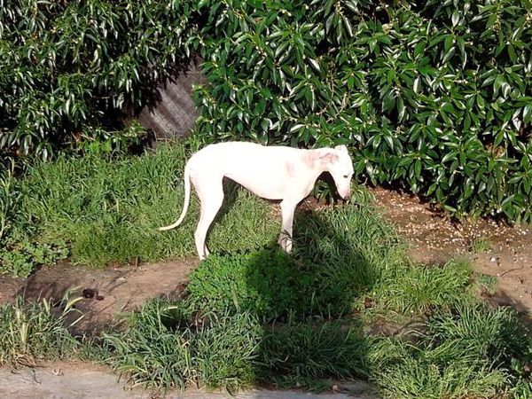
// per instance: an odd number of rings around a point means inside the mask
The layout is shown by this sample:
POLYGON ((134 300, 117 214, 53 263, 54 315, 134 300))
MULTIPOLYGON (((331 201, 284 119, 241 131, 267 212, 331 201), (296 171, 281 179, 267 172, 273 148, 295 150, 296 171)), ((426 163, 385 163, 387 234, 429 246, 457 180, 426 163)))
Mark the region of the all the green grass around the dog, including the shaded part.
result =
MULTIPOLYGON (((161 146, 139 157, 37 164, 22 179, 4 175, 4 272, 25 275, 66 255, 95 267, 195 255, 197 201, 182 227, 156 230, 181 210, 185 154, 184 145, 161 146)), ((90 340, 68 332, 73 301, 4 305, 0 363, 99 359, 131 383, 163 391, 324 388, 330 379, 364 378, 390 398, 532 395, 527 328, 511 309, 478 297, 493 278, 460 260, 411 262, 364 189, 348 205, 299 211, 290 255, 278 249, 270 204, 226 189, 209 237, 214 254, 192 272, 184 300, 149 301, 125 331, 90 340), (390 337, 375 332, 382 324, 403 328, 390 337)))

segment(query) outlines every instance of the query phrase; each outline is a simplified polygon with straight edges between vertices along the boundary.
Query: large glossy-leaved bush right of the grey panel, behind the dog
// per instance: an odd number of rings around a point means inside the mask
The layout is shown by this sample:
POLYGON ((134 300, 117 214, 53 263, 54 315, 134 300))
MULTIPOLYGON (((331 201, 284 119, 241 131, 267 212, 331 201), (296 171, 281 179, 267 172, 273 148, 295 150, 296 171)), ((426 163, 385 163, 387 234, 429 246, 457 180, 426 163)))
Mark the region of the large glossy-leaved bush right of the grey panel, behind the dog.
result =
POLYGON ((529 221, 528 1, 202 1, 197 130, 346 143, 358 176, 529 221))

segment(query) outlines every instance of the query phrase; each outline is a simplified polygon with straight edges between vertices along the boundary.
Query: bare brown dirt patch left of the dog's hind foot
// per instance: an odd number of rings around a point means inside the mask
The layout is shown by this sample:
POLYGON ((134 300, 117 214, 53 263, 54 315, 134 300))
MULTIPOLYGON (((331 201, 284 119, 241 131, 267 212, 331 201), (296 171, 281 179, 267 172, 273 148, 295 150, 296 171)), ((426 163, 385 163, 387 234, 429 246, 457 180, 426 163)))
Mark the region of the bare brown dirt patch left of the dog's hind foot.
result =
POLYGON ((95 270, 59 263, 36 270, 26 281, 2 276, 0 301, 13 301, 16 295, 30 301, 60 301, 66 290, 74 288, 72 297, 83 297, 75 305, 84 314, 77 328, 90 332, 109 325, 122 312, 137 309, 147 299, 179 298, 197 264, 196 259, 189 259, 95 270))

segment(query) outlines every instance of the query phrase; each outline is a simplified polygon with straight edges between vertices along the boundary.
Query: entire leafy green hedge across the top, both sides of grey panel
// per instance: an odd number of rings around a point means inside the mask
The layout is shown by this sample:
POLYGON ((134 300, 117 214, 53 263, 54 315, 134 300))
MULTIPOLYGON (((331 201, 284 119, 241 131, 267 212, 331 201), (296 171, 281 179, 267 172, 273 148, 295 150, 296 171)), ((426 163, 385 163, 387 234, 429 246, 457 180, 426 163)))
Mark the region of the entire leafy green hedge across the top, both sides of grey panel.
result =
POLYGON ((204 141, 348 144, 372 184, 532 218, 528 0, 16 1, 0 22, 4 153, 127 147, 121 108, 196 51, 204 141))

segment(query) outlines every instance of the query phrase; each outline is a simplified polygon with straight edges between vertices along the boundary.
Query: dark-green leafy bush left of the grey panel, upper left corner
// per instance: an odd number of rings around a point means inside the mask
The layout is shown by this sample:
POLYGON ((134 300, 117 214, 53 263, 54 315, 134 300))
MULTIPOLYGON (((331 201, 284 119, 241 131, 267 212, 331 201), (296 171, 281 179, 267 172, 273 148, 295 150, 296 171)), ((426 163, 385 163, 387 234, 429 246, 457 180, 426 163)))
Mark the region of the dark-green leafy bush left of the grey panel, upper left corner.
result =
POLYGON ((191 12, 158 0, 3 3, 0 151, 47 158, 121 128, 124 108, 188 64, 191 12))

